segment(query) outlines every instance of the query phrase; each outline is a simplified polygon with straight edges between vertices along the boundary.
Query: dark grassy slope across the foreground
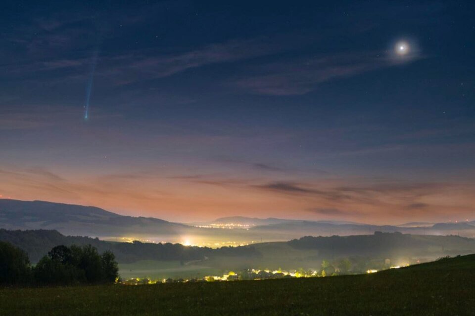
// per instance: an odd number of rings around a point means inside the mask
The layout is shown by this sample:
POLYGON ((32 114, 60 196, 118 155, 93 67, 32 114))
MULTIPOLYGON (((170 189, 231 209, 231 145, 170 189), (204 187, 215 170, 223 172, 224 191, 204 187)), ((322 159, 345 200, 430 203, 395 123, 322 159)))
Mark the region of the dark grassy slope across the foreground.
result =
POLYGON ((475 255, 359 276, 5 288, 0 315, 475 315, 475 255))

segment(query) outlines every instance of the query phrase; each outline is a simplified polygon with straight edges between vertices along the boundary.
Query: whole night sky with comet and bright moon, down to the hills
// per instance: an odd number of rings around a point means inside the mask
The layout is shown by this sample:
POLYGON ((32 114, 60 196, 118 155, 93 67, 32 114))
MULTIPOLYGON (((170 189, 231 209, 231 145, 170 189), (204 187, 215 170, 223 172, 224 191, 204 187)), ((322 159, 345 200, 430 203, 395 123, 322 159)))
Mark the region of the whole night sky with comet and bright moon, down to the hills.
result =
POLYGON ((473 1, 8 1, 0 195, 475 219, 473 1))

